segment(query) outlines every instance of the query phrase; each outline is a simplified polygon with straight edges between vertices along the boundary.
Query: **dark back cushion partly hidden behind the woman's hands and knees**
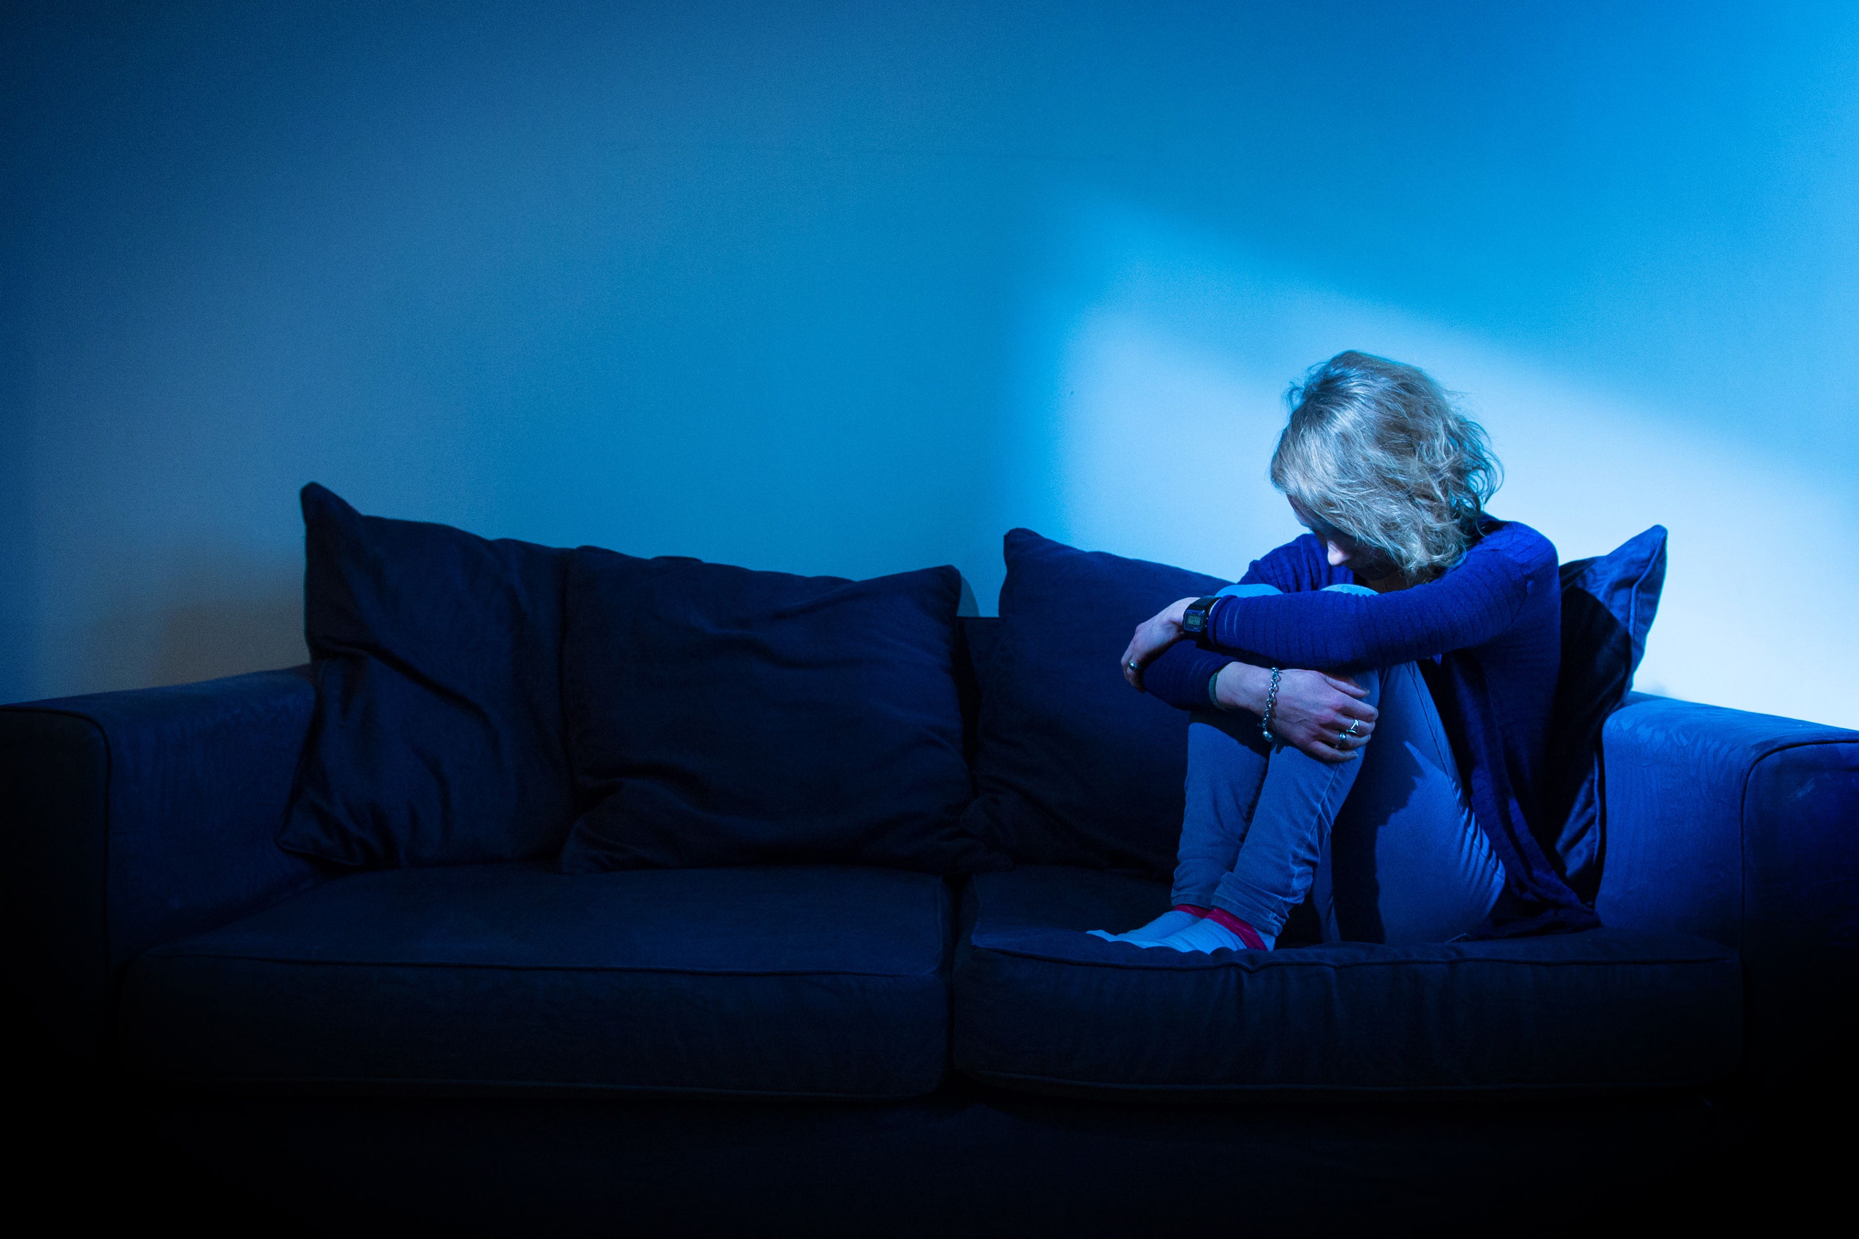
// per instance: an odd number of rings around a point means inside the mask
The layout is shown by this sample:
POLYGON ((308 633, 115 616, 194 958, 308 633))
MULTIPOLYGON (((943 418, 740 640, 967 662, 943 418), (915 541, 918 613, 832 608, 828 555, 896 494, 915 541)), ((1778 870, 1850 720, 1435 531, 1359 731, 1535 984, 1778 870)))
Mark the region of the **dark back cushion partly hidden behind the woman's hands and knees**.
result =
POLYGON ((1132 693, 1130 632, 1227 581, 1013 529, 982 674, 970 828, 1024 864, 1167 875, 1180 838, 1188 715, 1132 693))

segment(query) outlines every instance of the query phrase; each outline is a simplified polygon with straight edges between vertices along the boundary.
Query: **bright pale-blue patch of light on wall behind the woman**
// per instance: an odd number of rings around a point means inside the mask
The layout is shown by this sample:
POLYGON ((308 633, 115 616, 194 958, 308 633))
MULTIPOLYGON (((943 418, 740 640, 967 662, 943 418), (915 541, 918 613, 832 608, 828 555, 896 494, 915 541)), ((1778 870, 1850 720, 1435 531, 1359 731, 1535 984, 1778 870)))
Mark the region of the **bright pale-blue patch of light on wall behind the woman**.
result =
POLYGON ((1325 292, 1166 219, 1082 204, 1060 215, 1052 236, 1069 238, 1071 262, 1045 306, 1050 364, 1028 375, 1015 453, 1021 511, 1048 535, 1236 576, 1301 531, 1266 479, 1285 375, 1342 347, 1426 359, 1508 466, 1496 515, 1543 529, 1563 559, 1671 529, 1641 689, 1859 723, 1846 639, 1859 578, 1827 570, 1829 548, 1859 544, 1844 461, 1800 459, 1759 425, 1688 420, 1489 336, 1325 292), (1803 650, 1816 650, 1811 674, 1803 650))

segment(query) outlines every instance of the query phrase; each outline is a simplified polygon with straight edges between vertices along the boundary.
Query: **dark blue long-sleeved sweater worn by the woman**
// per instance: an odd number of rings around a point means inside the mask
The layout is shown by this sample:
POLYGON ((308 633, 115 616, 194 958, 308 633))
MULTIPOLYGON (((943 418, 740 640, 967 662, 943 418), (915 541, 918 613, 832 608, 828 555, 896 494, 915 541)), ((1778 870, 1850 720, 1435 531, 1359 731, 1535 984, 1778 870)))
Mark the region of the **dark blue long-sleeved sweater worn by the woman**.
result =
POLYGON ((1480 929, 1510 936, 1599 925, 1556 873, 1539 823, 1549 711, 1562 659, 1556 548, 1530 526, 1487 520, 1444 576, 1387 594, 1318 593, 1353 581, 1303 535, 1255 559, 1242 583, 1281 594, 1229 598, 1208 646, 1177 641, 1143 672, 1143 687, 1182 710, 1206 708, 1206 680, 1231 661, 1260 667, 1361 669, 1418 663, 1452 739, 1472 812, 1504 862, 1504 893, 1480 929))

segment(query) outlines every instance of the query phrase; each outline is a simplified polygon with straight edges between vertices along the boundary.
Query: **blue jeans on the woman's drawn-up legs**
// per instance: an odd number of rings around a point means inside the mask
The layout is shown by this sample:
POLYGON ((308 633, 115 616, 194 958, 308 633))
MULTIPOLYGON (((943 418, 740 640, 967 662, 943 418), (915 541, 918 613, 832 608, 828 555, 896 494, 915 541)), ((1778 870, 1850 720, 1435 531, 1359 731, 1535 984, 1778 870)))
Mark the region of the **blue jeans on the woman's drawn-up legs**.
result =
POLYGON ((1353 680, 1379 717, 1359 758, 1338 765, 1268 745, 1251 713, 1192 715, 1175 903, 1225 908, 1275 938, 1311 895, 1325 942, 1448 942, 1485 918, 1504 866, 1472 817, 1420 669, 1353 680))

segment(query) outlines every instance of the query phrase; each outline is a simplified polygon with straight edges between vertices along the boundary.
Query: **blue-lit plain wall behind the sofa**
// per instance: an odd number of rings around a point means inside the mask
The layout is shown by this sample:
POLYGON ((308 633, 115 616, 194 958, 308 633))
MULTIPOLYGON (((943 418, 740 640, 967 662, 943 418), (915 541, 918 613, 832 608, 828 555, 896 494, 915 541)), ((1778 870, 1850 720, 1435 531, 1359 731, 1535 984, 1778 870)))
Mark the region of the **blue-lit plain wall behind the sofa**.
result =
POLYGON ((9 19, 0 698, 299 659, 307 479, 1236 574, 1366 347, 1567 557, 1671 528, 1645 687, 1859 724, 1852 6, 329 7, 9 19))

